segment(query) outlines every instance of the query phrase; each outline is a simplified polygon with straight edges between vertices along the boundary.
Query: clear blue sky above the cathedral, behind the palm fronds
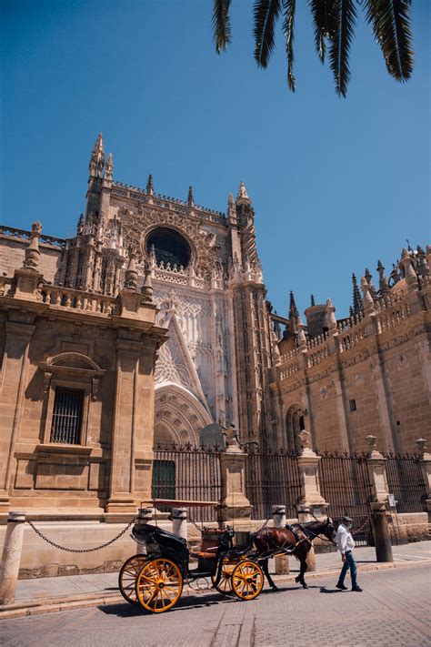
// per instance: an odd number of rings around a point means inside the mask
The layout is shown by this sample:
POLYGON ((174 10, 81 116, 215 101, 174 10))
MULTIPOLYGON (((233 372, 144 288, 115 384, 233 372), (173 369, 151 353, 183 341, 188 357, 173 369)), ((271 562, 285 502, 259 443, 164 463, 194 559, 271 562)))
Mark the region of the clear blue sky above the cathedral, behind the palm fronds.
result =
POLYGON ((429 242, 429 3, 413 3, 414 76, 397 84, 362 14, 339 99, 297 5, 296 94, 279 32, 253 60, 251 2, 233 0, 233 44, 216 56, 211 0, 3 0, 0 221, 71 235, 98 132, 114 177, 226 211, 244 178, 256 208, 268 298, 286 314, 331 297, 351 274, 388 272, 408 238, 429 242))

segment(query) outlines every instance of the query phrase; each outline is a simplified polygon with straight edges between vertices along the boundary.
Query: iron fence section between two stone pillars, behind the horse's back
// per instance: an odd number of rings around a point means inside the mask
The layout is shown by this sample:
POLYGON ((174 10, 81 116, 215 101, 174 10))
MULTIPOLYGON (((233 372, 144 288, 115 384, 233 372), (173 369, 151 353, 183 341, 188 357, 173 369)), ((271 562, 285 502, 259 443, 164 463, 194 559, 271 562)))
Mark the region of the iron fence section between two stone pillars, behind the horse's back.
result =
POLYGON ((287 518, 296 517, 301 481, 296 454, 286 450, 250 448, 246 454, 246 497, 252 519, 269 519, 274 504, 286 505, 287 518))

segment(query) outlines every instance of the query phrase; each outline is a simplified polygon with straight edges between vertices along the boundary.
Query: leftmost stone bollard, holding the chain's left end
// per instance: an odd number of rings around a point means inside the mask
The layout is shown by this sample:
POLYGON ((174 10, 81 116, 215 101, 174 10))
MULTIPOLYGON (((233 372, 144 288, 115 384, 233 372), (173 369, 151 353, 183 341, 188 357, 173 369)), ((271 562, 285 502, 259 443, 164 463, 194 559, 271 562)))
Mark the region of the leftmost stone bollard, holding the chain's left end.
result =
POLYGON ((25 512, 9 512, 0 577, 0 603, 15 602, 19 564, 24 539, 25 512))

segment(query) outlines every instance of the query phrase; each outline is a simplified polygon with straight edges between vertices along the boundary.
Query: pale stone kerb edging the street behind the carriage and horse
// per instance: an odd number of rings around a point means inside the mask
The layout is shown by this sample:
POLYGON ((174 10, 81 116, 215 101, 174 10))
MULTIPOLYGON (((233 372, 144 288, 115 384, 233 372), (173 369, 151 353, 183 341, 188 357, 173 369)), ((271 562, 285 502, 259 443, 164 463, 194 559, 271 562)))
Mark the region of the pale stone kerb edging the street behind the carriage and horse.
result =
MULTIPOLYGON (((370 563, 370 564, 358 564, 358 572, 370 572, 370 571, 386 571, 388 569, 396 568, 411 568, 414 566, 423 566, 425 564, 431 564, 430 559, 425 560, 416 560, 416 561, 393 561, 389 563, 370 563)), ((336 576, 339 573, 339 569, 332 569, 331 571, 317 571, 309 572, 306 574, 306 579, 309 580, 318 580, 325 577, 336 576)), ((273 575, 272 576, 276 584, 286 584, 289 582, 295 582, 296 574, 289 575, 273 575)), ((212 589, 205 589, 203 591, 184 591, 183 595, 218 595, 217 591, 212 589)), ((25 616, 30 615, 39 615, 42 613, 53 613, 60 611, 73 611, 77 609, 88 609, 91 607, 97 606, 106 606, 108 604, 118 604, 125 602, 125 599, 120 593, 105 593, 101 594, 98 592, 95 593, 84 593, 83 595, 70 595, 64 598, 45 598, 39 599, 37 601, 23 601, 23 602, 14 602, 13 604, 0 605, 0 621, 2 620, 14 620, 15 618, 25 618, 25 616)))

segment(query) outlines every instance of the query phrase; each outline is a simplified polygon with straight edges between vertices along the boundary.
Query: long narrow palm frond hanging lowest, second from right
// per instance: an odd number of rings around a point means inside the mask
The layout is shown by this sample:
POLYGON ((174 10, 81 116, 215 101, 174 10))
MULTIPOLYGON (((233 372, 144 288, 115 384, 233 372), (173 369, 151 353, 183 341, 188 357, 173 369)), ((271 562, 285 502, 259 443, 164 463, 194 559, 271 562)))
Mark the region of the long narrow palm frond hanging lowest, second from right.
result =
POLYGON ((329 52, 330 65, 336 80, 336 93, 346 97, 350 78, 348 55, 355 31, 354 0, 336 0, 337 30, 329 52))

